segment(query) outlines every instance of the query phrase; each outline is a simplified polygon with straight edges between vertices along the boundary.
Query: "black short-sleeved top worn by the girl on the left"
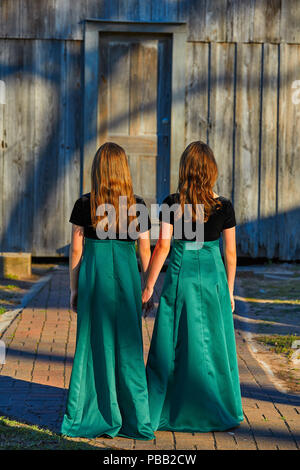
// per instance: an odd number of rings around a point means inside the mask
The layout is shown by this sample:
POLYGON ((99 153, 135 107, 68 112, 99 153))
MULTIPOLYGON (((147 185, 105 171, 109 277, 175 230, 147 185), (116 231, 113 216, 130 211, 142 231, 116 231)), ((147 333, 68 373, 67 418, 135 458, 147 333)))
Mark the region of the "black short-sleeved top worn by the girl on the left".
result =
MULTIPOLYGON (((137 204, 142 204, 146 207, 146 203, 143 198, 137 195, 134 195, 134 196, 135 196, 135 200, 137 204)), ((137 211, 137 214, 139 214, 138 211, 137 211)), ((147 214, 148 214, 147 227, 142 227, 142 224, 141 224, 140 226, 141 232, 145 232, 147 230, 150 230, 151 228, 151 221, 150 221, 148 210, 147 210, 147 214)), ((72 224, 79 225, 80 227, 84 227, 84 236, 86 238, 99 240, 99 238, 97 237, 96 229, 92 226, 91 193, 84 194, 79 199, 77 199, 73 207, 72 213, 71 213, 70 222, 72 224)), ((116 234, 116 239, 117 240, 119 239, 118 233, 116 234)), ((121 241, 125 241, 125 242, 132 241, 132 238, 128 234, 127 238, 122 238, 121 241)))

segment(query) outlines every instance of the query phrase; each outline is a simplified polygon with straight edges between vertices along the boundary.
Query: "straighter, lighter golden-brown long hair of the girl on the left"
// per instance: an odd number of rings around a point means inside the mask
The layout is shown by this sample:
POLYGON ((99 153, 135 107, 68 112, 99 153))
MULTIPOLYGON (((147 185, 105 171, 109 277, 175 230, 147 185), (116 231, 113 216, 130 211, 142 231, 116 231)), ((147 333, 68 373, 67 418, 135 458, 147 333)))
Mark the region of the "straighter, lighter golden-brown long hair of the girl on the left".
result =
MULTIPOLYGON (((91 172, 91 219, 96 227, 104 217, 96 216, 97 207, 111 204, 116 211, 116 227, 119 224, 119 197, 127 196, 127 209, 136 204, 126 153, 122 147, 106 142, 101 145, 94 157, 91 172)), ((128 217, 127 223, 135 218, 128 217)))

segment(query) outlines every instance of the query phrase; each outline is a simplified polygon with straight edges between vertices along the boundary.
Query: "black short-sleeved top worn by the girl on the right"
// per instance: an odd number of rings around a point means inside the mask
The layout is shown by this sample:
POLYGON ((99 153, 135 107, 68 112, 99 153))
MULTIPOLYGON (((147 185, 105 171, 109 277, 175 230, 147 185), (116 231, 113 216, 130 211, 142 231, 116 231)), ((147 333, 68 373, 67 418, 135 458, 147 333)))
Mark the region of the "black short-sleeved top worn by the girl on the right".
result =
MULTIPOLYGON (((215 209, 213 213, 210 215, 208 221, 204 223, 204 241, 217 240, 218 238, 220 238, 221 232, 224 229, 236 226, 234 208, 230 200, 223 196, 219 196, 216 199, 221 201, 222 206, 218 209, 215 209)), ((163 204, 167 204, 169 207, 172 206, 173 204, 179 204, 179 203, 180 203, 179 193, 170 194, 163 201, 163 204)), ((169 218, 169 216, 167 215, 164 216, 162 211, 160 211, 159 220, 168 222, 174 226, 174 212, 170 211, 170 218, 169 218)), ((181 239, 189 240, 189 241, 195 240, 196 236, 194 237, 194 239, 187 239, 184 236, 183 219, 181 219, 181 223, 182 223, 182 234, 183 234, 181 239)), ((192 229, 193 231, 196 230, 195 222, 193 222, 192 229)))

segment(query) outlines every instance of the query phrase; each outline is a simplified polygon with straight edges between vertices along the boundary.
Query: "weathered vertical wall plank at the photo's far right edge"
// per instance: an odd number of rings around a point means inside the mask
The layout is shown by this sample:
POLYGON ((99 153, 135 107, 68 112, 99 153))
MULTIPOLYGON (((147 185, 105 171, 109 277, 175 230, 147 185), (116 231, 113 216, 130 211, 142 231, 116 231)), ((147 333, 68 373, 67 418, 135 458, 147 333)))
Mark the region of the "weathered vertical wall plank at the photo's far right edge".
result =
POLYGON ((300 257, 300 46, 280 46, 278 155, 279 257, 300 257))

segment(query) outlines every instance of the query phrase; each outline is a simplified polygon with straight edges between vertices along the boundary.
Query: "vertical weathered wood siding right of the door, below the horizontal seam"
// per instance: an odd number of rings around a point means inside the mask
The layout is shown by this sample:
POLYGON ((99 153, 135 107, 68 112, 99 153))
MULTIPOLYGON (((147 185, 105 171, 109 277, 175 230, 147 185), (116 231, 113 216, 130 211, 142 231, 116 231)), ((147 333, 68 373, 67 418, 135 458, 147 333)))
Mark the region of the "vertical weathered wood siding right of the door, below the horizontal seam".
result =
POLYGON ((186 143, 200 138, 214 150, 216 191, 234 202, 241 256, 300 257, 299 51, 188 43, 186 143))

